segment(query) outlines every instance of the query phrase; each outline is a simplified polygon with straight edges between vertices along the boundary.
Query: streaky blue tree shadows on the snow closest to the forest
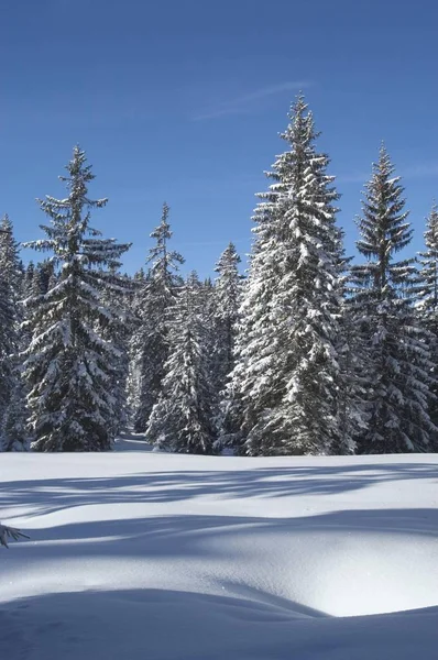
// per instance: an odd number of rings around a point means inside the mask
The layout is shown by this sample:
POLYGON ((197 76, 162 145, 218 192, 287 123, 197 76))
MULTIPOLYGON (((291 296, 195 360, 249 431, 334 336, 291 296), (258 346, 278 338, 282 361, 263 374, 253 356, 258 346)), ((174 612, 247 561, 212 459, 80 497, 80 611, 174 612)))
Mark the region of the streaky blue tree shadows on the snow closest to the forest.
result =
MULTIPOLYGON (((226 459, 225 459, 226 460, 226 459)), ((2 482, 2 506, 32 507, 34 515, 63 508, 110 503, 172 503, 208 495, 218 499, 337 495, 381 483, 436 480, 438 464, 428 462, 247 470, 145 471, 110 477, 43 479, 2 482)))

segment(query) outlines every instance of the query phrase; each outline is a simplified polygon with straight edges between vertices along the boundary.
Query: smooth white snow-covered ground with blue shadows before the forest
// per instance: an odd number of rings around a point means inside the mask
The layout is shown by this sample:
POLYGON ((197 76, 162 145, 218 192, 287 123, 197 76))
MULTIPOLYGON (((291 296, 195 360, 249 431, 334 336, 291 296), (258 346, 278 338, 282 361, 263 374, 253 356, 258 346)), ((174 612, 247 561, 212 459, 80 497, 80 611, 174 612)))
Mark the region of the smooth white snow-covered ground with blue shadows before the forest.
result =
POLYGON ((0 657, 431 660, 438 457, 1 454, 0 657))

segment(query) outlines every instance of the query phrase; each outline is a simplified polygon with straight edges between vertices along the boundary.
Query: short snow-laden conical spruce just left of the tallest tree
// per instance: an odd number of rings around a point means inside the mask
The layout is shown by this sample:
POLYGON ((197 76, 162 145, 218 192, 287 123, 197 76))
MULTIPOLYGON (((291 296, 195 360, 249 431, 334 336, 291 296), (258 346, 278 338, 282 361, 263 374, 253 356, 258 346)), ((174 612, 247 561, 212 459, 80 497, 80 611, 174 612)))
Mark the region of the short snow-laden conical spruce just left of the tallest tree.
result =
POLYGON ((157 448, 178 453, 213 453, 212 393, 209 354, 202 322, 200 283, 191 274, 172 310, 169 356, 158 402, 146 438, 157 448))

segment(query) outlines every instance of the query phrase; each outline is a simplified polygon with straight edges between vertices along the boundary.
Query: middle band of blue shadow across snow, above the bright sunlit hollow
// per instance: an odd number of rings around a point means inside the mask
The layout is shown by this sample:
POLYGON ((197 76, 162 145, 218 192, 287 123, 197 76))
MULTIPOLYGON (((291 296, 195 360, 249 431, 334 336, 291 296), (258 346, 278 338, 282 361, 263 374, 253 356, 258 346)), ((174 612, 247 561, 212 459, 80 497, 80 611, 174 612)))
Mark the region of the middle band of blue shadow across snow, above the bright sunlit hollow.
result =
MULTIPOLYGON (((215 554, 213 544, 206 549, 202 541, 209 537, 225 539, 238 534, 240 538, 258 532, 269 535, 299 535, 305 531, 358 531, 377 532, 382 535, 418 535, 431 538, 438 537, 438 509, 351 509, 324 513, 319 515, 288 518, 258 518, 250 516, 211 516, 211 515, 165 515, 142 516, 110 520, 69 522, 45 529, 26 527, 33 543, 21 542, 14 546, 14 552, 26 551, 32 546, 32 553, 39 551, 39 540, 75 541, 74 546, 65 546, 63 557, 75 557, 79 553, 101 556, 100 543, 107 546, 111 554, 127 557, 139 556, 144 559, 153 557, 199 557, 215 554), (89 539, 96 543, 89 542, 89 539), (120 540, 129 540, 125 549, 120 540), (177 542, 174 542, 177 541, 177 542), (138 543, 136 543, 138 542, 138 543), (35 544, 34 544, 35 543, 35 544), (83 548, 80 546, 83 544, 83 548)), ((42 552, 51 554, 50 548, 42 552)), ((56 550, 59 553, 59 550, 56 550)), ((55 550, 54 550, 55 553, 55 550)))

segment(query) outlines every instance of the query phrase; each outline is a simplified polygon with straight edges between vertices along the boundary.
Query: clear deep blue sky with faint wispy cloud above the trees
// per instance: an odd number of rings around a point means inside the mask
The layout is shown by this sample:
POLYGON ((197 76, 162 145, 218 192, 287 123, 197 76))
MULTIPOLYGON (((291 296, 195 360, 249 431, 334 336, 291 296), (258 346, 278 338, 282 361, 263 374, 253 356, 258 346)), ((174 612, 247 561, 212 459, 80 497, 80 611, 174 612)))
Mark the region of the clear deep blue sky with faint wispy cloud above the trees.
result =
MULTIPOLYGON (((171 206, 201 276, 249 251, 254 194, 302 88, 342 194, 347 246, 382 140, 404 177, 413 251, 438 197, 436 0, 0 1, 0 213, 41 235, 35 204, 79 143, 108 196, 94 224, 139 268, 171 206)), ((36 255, 37 256, 37 255, 36 255)))

